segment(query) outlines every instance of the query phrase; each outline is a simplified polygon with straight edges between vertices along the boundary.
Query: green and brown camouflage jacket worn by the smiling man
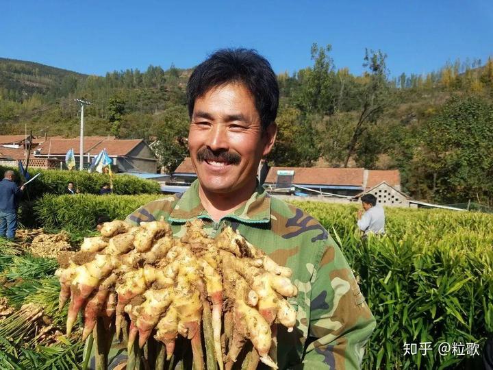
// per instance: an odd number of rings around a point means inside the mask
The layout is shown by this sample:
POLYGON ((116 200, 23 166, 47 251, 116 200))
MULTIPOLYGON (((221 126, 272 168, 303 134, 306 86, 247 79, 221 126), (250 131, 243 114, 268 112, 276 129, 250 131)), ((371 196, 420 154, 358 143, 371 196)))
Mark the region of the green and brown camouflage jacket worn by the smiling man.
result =
MULTIPOLYGON (((215 222, 201 205, 198 188, 195 181, 182 195, 151 201, 126 221, 164 219, 178 237, 186 221, 196 217, 203 219, 210 236, 223 225, 239 230, 275 262, 290 267, 291 280, 299 288, 298 295, 288 299, 297 310, 294 331, 279 325, 279 369, 359 369, 375 318, 327 230, 299 208, 270 197, 261 186, 243 206, 215 222)), ((120 354, 114 362, 122 359, 120 354)))

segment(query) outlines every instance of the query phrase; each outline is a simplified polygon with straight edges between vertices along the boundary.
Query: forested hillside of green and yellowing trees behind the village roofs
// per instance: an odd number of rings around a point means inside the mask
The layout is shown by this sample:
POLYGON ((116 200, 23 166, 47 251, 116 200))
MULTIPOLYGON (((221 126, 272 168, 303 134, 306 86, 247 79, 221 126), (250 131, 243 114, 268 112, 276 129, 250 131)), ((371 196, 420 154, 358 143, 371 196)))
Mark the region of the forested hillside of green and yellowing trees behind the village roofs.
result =
MULTIPOLYGON (((312 66, 280 74, 279 136, 271 164, 400 169, 405 190, 442 203, 493 202, 493 60, 446 63, 427 75, 392 71, 362 51, 366 71, 337 66, 312 46, 312 66)), ((0 132, 157 137, 164 166, 186 156, 190 70, 149 66, 104 77, 0 59, 0 132), (167 160, 167 159, 173 160, 167 160)))

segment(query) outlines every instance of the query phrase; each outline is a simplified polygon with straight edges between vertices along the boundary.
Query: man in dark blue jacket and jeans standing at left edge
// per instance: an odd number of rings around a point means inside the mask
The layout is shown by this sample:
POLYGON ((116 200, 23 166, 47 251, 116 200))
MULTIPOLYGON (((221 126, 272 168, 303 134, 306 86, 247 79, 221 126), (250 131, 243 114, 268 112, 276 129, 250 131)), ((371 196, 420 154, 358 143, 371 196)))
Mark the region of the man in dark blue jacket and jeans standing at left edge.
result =
POLYGON ((17 208, 25 186, 20 188, 14 182, 14 171, 8 170, 0 182, 0 236, 15 237, 17 230, 17 208))

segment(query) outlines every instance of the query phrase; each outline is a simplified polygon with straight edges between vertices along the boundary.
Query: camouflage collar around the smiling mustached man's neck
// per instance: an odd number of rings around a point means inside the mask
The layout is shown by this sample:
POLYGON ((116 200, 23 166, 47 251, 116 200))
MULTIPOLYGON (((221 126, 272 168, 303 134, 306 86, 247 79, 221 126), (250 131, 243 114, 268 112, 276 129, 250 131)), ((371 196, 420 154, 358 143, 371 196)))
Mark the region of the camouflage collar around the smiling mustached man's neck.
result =
MULTIPOLYGON (((177 201, 170 213, 169 221, 184 223, 195 218, 212 219, 203 208, 199 197, 199 180, 195 180, 190 188, 177 201)), ((223 219, 235 219, 244 223, 268 223, 270 221, 270 197, 266 190, 257 182, 257 187, 242 206, 227 214, 223 219)))

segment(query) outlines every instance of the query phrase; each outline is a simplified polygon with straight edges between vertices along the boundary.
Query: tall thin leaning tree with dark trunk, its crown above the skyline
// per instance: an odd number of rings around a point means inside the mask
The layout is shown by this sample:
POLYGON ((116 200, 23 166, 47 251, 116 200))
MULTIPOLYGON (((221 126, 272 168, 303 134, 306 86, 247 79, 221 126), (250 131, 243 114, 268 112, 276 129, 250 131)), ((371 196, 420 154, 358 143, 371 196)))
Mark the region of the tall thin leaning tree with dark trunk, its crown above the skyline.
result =
POLYGON ((390 88, 387 81, 387 55, 379 51, 366 49, 364 64, 368 72, 364 75, 364 84, 360 94, 360 113, 353 136, 348 145, 344 167, 348 166, 349 159, 355 152, 359 138, 368 128, 368 124, 375 123, 390 102, 390 88))

